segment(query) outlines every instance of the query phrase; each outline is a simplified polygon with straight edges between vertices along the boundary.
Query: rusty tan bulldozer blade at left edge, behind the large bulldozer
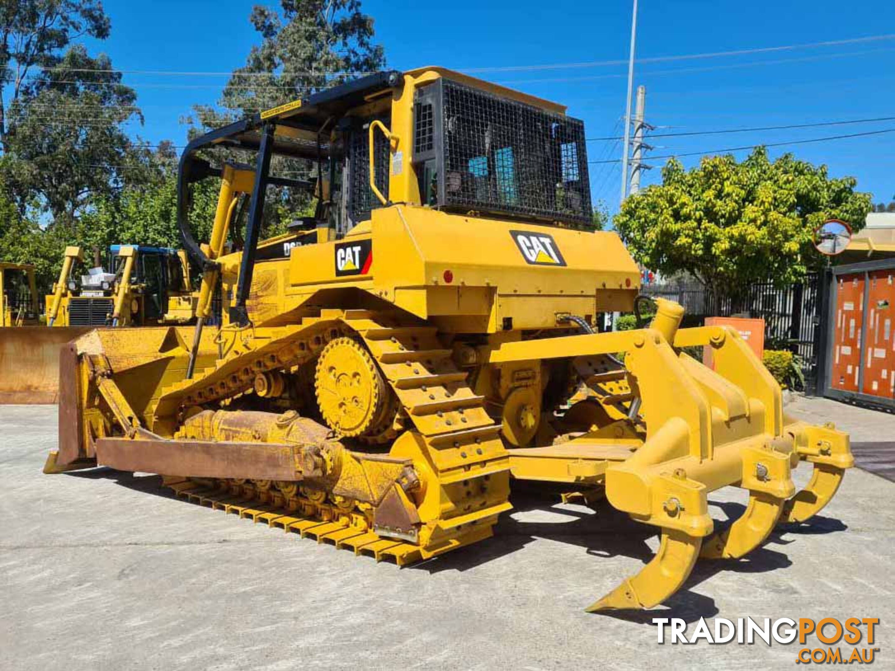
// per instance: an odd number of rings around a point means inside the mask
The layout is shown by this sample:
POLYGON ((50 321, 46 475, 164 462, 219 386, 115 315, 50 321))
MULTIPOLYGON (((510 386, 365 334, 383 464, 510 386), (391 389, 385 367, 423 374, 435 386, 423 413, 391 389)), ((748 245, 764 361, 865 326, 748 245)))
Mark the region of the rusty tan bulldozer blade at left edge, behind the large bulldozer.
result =
POLYGON ((0 328, 0 405, 58 403, 59 350, 91 327, 0 328))

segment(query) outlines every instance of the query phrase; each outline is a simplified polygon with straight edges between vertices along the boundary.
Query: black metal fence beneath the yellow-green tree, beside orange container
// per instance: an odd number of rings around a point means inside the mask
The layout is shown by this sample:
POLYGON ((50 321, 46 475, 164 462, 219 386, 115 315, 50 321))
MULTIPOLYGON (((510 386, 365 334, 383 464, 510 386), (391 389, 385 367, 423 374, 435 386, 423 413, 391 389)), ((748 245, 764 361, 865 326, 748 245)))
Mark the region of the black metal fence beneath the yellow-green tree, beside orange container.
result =
POLYGON ((816 327, 819 313, 820 281, 817 274, 804 282, 783 287, 760 282, 749 287, 746 298, 734 304, 718 298, 696 282, 644 285, 643 292, 677 301, 693 319, 740 315, 764 319, 766 349, 788 349, 802 360, 805 386, 814 389, 817 379, 816 327))

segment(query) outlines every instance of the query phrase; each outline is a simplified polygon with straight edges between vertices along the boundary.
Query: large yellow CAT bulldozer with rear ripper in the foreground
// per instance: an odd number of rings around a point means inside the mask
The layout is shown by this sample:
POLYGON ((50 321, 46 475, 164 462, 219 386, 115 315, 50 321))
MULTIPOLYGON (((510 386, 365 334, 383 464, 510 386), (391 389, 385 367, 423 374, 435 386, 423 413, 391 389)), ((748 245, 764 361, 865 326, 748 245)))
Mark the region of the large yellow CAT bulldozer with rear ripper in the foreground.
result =
POLYGON ((649 325, 596 332, 633 310, 640 275, 617 234, 578 230, 587 167, 565 107, 438 67, 192 140, 178 224, 202 270, 197 324, 66 345, 45 471, 158 473, 184 499, 398 565, 490 537, 511 485, 537 481, 661 533, 589 610, 660 604, 697 557, 745 556, 817 513, 853 459, 845 433, 787 417, 728 327, 681 328, 683 309, 657 301, 649 325), (272 157, 316 164, 317 184, 271 174, 272 157), (200 244, 203 179, 220 192, 200 244), (320 198, 261 241, 270 186, 320 198), (749 502, 718 531, 708 496, 729 486, 749 502))

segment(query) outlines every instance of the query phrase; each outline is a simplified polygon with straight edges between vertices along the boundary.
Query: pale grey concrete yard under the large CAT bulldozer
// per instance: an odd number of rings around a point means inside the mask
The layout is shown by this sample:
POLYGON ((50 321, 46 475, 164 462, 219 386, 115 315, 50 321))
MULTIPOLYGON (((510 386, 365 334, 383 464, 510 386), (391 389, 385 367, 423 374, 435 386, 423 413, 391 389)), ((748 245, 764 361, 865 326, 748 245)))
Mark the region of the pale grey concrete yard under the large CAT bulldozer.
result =
MULTIPOLYGON (((892 415, 788 411, 895 436, 892 415)), ((877 666, 895 658, 895 483, 869 472, 746 559, 699 562, 658 612, 601 616, 584 607, 657 547, 605 507, 516 496, 495 538, 399 569, 190 505, 153 476, 43 475, 55 421, 52 406, 0 407, 3 669, 792 668, 800 648, 658 645, 652 616, 879 617, 877 666)), ((717 519, 741 514, 742 492, 716 494, 717 519)))

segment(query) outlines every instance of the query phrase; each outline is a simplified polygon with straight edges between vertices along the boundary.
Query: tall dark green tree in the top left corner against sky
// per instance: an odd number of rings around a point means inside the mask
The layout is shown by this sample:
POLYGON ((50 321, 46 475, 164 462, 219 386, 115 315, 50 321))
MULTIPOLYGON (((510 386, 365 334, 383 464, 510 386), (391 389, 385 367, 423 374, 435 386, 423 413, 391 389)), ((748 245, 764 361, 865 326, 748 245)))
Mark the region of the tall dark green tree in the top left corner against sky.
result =
POLYGON ((142 121, 136 93, 106 55, 73 40, 107 38, 94 0, 0 2, 0 139, 6 180, 22 213, 75 225, 95 197, 149 179, 149 152, 124 132, 142 121))

